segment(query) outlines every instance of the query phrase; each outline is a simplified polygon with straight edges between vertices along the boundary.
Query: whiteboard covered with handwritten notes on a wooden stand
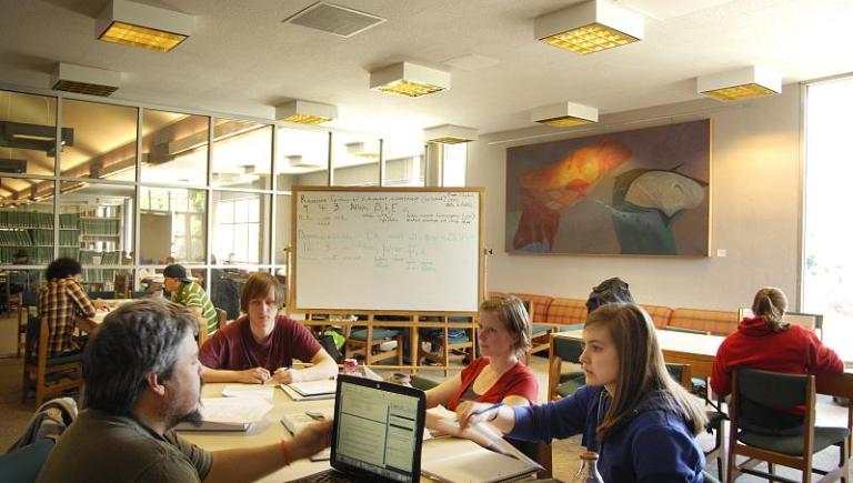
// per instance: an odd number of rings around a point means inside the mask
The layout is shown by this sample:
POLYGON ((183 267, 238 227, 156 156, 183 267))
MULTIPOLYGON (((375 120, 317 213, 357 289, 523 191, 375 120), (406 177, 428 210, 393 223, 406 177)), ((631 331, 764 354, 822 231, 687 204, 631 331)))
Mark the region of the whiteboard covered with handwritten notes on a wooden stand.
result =
POLYGON ((479 188, 294 188, 290 310, 476 312, 481 198, 479 188))

